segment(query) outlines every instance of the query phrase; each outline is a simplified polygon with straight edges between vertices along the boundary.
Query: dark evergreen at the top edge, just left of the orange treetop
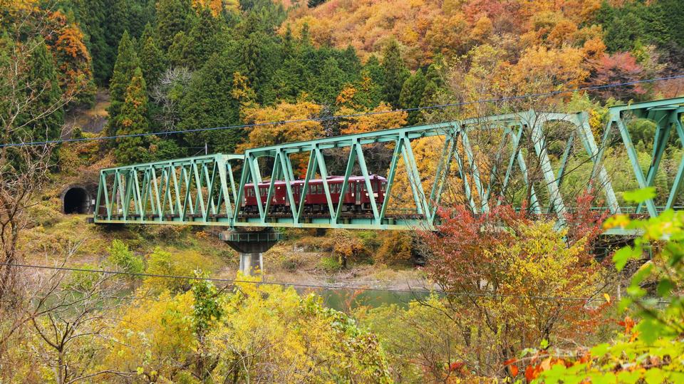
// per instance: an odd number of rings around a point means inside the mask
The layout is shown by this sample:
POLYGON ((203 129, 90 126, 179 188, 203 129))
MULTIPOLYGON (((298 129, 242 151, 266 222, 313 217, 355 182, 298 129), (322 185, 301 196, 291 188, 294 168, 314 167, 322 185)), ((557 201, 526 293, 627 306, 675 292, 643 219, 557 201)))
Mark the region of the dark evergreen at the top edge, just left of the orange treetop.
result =
POLYGON ((157 1, 157 37, 160 48, 166 51, 178 32, 190 29, 194 13, 190 0, 157 1))

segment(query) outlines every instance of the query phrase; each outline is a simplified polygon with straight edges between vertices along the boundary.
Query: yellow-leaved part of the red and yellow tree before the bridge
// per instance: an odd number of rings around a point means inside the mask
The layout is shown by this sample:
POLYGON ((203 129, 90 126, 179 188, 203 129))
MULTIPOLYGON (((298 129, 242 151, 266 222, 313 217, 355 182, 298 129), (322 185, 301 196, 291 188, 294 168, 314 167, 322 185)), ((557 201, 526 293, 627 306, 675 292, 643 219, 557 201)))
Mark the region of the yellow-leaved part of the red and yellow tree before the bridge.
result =
MULTIPOLYGON (((507 247, 495 249, 495 259, 503 266, 498 293, 525 297, 503 297, 492 301, 489 311, 509 323, 517 323, 519 331, 528 340, 548 337, 546 327, 549 321, 559 321, 556 334, 576 332, 582 318, 571 303, 559 311, 554 301, 535 300, 534 296, 589 297, 596 292, 601 278, 601 267, 594 259, 580 259, 586 256, 586 239, 566 244, 566 231, 556 231, 554 222, 537 221, 517 227, 515 238, 519 241, 507 247), (532 297, 527 297, 532 296, 532 297)), ((583 304, 578 304, 579 307, 583 304)))

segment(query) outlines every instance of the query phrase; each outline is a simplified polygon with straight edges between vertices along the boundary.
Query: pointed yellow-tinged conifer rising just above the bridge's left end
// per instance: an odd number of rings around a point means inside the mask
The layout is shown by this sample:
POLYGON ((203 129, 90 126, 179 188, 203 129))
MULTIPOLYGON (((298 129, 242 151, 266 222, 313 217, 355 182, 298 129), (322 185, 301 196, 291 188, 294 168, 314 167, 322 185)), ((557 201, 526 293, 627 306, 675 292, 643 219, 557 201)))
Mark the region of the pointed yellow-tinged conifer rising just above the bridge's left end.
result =
MULTIPOLYGON (((121 113, 115 118, 119 135, 147 133, 150 129, 147 120, 147 92, 145 79, 140 67, 135 68, 133 77, 126 88, 121 113)), ((120 164, 130 164, 150 160, 149 137, 120 137, 116 140, 114 154, 120 164)))

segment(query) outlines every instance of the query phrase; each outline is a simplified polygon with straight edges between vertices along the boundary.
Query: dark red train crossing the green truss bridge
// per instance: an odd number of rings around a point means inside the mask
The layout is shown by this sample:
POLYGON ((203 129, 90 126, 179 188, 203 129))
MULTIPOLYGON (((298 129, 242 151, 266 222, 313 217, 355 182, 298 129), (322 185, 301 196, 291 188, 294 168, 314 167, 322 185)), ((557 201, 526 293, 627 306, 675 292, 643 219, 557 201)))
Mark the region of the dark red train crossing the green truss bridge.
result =
MULTIPOLYGON (((371 187, 373 188, 373 197, 375 197, 375 204, 382 204, 385 200, 385 190, 387 190, 387 179, 378 175, 370 175, 371 187)), ((342 183, 344 177, 330 176, 328 177, 328 187, 330 188, 330 196, 337 207, 340 201, 342 192, 342 183)), ((266 197, 269 194, 269 187, 271 182, 259 183, 259 194, 262 204, 266 204, 266 197)), ((301 199, 301 192, 304 189, 304 180, 296 180, 290 182, 292 193, 294 194, 294 201, 299 204, 301 199)), ((347 190, 342 197, 343 212, 371 212, 371 196, 366 190, 366 181, 363 176, 350 176, 347 190)), ((257 213, 257 196, 254 191, 254 184, 247 184, 244 186, 244 213, 257 213)), ((273 197, 271 198, 270 212, 291 212, 290 201, 287 198, 287 189, 284 181, 276 180, 274 185, 273 197)), ((304 212, 330 212, 328 210, 328 201, 326 199, 325 190, 323 190, 322 179, 309 180, 309 189, 306 191, 304 197, 304 212)))

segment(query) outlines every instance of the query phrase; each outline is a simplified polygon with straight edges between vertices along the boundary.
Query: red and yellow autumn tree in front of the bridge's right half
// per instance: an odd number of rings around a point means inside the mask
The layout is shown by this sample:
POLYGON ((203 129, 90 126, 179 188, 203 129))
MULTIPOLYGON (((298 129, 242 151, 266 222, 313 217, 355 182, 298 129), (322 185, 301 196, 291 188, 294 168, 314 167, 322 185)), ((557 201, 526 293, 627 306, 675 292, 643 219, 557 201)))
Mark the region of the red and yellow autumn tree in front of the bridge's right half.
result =
POLYGON ((438 232, 423 234, 427 274, 467 348, 467 365, 497 375, 524 348, 578 340, 595 326, 601 306, 581 299, 600 292, 603 267, 587 238, 566 242, 553 222, 531 221, 509 207, 474 216, 465 207, 442 211, 438 232), (487 368, 489 365, 489 368, 487 368))

